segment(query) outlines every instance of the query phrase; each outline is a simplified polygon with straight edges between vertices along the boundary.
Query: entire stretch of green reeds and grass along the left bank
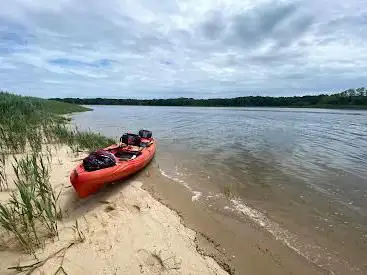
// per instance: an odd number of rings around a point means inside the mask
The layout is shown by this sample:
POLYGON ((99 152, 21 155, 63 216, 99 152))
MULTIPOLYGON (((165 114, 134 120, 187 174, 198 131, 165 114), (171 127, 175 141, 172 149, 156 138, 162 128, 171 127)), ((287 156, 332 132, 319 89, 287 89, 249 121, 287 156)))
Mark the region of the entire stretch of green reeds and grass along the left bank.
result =
POLYGON ((21 247, 34 253, 48 237, 58 235, 62 211, 59 192, 50 184, 51 151, 60 144, 73 151, 93 151, 114 140, 68 125, 61 114, 88 108, 34 97, 0 93, 0 191, 10 191, 0 203, 0 228, 14 236, 21 247), (5 167, 15 174, 9 190, 5 167))

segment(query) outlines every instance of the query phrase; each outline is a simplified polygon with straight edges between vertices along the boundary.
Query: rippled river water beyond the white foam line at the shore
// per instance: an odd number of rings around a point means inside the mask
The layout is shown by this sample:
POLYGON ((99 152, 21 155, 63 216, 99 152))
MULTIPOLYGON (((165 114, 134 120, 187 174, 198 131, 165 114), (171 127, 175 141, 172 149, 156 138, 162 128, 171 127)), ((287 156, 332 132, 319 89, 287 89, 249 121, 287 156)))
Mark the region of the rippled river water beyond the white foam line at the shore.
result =
POLYGON ((367 111, 91 107, 83 130, 152 130, 159 172, 192 203, 225 197, 310 261, 367 272, 367 111))

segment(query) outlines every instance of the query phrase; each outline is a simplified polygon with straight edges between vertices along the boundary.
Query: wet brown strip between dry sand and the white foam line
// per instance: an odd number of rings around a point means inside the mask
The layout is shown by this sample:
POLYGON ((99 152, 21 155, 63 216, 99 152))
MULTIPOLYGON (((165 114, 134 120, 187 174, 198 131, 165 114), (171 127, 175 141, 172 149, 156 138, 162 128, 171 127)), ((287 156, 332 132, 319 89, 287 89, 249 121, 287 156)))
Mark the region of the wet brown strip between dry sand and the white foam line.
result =
POLYGON ((144 174, 143 188, 177 211, 184 224, 200 233, 199 244, 217 262, 226 263, 233 274, 328 274, 289 247, 274 239, 245 216, 231 215, 225 204, 192 201, 192 193, 162 177, 156 163, 144 174), (223 210, 221 210, 223 209, 223 210))

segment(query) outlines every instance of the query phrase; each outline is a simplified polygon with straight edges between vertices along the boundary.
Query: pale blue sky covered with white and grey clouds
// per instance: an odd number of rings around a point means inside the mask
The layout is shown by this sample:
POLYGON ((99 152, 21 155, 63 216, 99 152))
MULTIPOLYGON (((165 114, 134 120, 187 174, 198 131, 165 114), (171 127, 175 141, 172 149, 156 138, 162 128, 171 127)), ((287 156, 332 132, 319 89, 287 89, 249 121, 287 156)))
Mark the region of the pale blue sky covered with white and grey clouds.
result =
POLYGON ((0 89, 287 96, 367 86, 367 0, 0 0, 0 89))

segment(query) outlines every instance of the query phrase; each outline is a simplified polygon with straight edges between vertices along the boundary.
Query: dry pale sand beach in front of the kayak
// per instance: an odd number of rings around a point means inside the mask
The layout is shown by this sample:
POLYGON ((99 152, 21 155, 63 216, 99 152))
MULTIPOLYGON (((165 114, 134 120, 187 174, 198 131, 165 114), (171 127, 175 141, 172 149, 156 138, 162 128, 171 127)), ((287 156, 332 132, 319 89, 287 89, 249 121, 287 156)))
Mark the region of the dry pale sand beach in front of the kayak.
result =
MULTIPOLYGON (((66 214, 59 225, 60 239, 48 241, 37 257, 43 260, 75 242, 75 220, 85 240, 52 257, 33 274, 55 274, 60 266, 67 274, 227 274, 212 258, 197 252, 196 233, 143 190, 141 182, 115 184, 79 199, 69 183, 69 172, 80 158, 66 147, 53 157, 51 182, 56 191, 62 190, 60 204, 66 214)), ((7 196, 1 192, 0 200, 7 196)), ((12 242, 1 241, 0 259, 0 274, 16 274, 7 268, 37 262, 12 242)))

